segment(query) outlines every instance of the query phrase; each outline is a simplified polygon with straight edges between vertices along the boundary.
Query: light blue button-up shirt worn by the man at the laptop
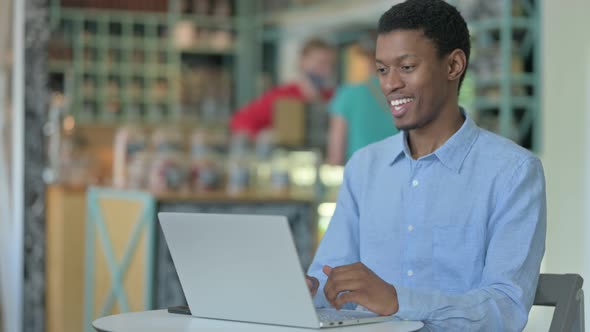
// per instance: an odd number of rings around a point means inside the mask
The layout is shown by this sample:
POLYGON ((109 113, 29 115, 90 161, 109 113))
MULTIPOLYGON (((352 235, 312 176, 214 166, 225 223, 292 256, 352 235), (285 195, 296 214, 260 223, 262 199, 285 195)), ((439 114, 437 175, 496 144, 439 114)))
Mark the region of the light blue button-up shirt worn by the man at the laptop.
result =
MULTIPOLYGON (((411 157, 406 133, 348 162, 334 216, 309 268, 362 262, 395 286, 397 317, 427 331, 520 331, 545 251, 539 159, 466 116, 435 152, 411 157)), ((348 308, 354 308, 348 304, 348 308)))

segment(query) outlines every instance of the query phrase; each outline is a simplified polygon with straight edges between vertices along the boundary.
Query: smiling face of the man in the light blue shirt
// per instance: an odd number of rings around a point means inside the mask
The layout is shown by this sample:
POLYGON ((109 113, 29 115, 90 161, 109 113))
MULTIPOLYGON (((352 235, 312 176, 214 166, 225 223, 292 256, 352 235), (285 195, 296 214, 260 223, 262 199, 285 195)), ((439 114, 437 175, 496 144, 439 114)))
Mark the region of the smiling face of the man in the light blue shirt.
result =
POLYGON ((436 123, 451 89, 445 58, 420 30, 395 30, 377 37, 377 76, 395 126, 400 130, 436 123), (393 102, 393 105, 392 105, 393 102))

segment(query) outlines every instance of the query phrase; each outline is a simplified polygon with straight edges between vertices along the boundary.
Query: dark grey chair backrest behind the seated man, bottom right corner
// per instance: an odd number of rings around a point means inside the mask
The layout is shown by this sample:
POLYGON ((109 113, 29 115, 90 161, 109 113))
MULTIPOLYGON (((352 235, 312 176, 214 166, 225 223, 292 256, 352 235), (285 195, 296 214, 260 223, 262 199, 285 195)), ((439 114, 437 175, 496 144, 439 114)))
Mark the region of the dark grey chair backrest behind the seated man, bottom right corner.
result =
POLYGON ((544 274, 533 305, 554 306, 549 332, 584 331, 584 279, 578 274, 544 274))

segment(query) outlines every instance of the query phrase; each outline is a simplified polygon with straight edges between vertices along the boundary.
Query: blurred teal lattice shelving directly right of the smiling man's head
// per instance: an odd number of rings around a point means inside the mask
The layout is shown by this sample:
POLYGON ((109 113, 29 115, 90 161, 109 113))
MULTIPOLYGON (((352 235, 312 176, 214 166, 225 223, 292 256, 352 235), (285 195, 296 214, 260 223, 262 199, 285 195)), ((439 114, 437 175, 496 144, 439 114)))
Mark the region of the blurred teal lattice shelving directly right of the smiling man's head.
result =
POLYGON ((480 126, 540 149, 540 22, 536 0, 454 1, 472 34, 470 104, 480 126))

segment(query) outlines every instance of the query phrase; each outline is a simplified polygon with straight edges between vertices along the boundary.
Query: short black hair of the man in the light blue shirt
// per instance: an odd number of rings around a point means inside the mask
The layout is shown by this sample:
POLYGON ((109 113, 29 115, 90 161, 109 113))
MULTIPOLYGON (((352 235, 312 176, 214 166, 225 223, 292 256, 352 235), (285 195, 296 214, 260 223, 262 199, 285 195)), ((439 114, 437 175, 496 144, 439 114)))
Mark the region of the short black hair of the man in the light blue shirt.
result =
MULTIPOLYGON (((407 0, 394 5, 381 15, 377 33, 395 30, 421 30, 434 43, 439 58, 460 49, 469 64, 471 41, 467 22, 457 8, 443 0, 407 0)), ((459 90, 466 72, 467 68, 459 78, 459 90)))

